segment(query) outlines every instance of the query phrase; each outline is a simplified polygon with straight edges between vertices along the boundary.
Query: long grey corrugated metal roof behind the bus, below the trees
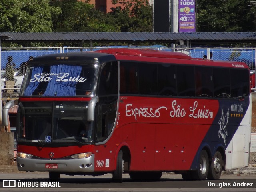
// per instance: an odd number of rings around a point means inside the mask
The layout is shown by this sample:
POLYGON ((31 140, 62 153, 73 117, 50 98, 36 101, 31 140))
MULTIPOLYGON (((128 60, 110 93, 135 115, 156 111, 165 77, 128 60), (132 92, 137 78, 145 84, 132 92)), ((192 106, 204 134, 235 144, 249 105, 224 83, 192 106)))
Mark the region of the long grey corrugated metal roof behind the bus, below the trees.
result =
POLYGON ((12 33, 1 32, 0 36, 9 36, 2 42, 165 42, 177 43, 180 40, 195 44, 231 44, 256 43, 255 32, 59 32, 59 33, 12 33))

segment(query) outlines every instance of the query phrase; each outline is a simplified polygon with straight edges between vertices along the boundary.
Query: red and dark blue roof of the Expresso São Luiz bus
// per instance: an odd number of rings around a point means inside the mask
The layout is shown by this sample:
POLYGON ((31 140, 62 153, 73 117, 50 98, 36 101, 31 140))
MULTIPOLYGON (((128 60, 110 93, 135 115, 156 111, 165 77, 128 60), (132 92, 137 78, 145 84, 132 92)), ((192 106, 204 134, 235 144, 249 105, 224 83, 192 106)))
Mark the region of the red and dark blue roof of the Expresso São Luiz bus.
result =
POLYGON ((249 67, 243 62, 235 61, 216 61, 200 58, 192 58, 184 53, 172 51, 159 51, 152 49, 135 49, 135 48, 109 48, 93 52, 68 52, 50 54, 33 58, 33 62, 55 62, 57 58, 64 58, 66 62, 83 62, 96 61, 99 63, 110 62, 114 60, 123 61, 140 61, 140 62, 162 62, 173 64, 192 64, 201 66, 221 66, 229 68, 246 68, 249 67), (96 60, 95 60, 96 59, 96 60))

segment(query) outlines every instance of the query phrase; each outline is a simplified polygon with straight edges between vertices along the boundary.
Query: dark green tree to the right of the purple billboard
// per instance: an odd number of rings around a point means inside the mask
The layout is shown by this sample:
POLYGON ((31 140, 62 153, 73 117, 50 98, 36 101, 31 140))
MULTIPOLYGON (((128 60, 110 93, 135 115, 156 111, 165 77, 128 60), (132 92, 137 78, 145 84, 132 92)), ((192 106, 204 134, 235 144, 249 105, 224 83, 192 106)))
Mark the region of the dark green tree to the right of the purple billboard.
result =
POLYGON ((255 7, 250 0, 197 0, 198 32, 255 31, 255 7))

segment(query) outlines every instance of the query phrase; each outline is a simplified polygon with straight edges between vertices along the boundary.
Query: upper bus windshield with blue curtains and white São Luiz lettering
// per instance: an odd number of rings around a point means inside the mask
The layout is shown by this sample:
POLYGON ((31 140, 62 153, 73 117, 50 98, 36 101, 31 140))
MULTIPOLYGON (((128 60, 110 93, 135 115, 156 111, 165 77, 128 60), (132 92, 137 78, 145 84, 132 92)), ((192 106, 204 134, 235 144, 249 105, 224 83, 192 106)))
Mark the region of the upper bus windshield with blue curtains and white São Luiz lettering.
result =
POLYGON ((97 64, 30 64, 20 96, 92 96, 97 72, 97 64))

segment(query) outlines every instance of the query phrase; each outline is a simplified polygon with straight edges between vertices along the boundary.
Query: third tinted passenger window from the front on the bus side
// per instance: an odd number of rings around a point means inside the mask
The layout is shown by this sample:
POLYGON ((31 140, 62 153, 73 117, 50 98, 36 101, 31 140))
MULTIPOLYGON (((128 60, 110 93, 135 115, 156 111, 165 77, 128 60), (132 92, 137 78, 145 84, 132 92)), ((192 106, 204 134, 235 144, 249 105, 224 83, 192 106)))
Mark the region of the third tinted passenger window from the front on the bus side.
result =
POLYGON ((158 65, 158 94, 170 96, 177 95, 176 65, 158 65))

